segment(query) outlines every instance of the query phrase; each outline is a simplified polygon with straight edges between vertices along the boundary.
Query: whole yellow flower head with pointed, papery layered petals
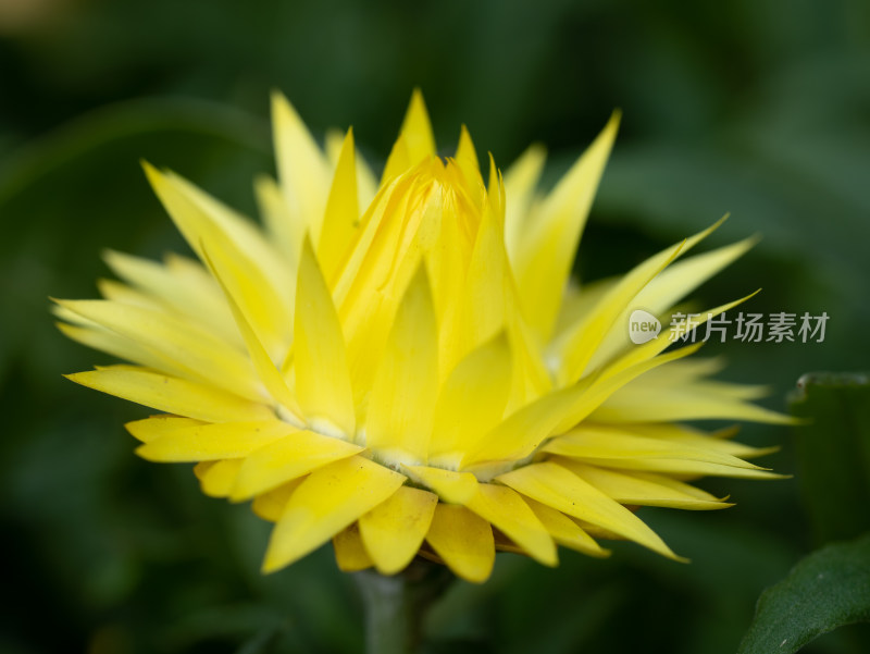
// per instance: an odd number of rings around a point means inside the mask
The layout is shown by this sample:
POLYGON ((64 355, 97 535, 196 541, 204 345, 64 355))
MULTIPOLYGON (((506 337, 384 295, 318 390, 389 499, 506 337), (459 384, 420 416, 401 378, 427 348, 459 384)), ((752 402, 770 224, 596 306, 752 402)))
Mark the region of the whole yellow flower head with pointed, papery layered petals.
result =
POLYGON ((667 319, 750 240, 676 262, 713 225, 621 279, 570 279, 618 115, 540 195, 538 148, 504 180, 490 158, 487 183, 464 128, 437 157, 419 92, 380 184, 350 131, 324 152, 283 97, 273 113, 264 230, 146 165, 200 261, 109 252, 123 283, 57 308, 133 363, 70 379, 162 411, 127 424, 140 456, 196 462, 204 493, 275 522, 265 571, 330 540, 344 570, 422 555, 475 582, 497 550, 555 566, 557 544, 606 555, 594 536, 676 558, 636 506, 721 508, 686 480, 771 476, 743 460, 762 451, 678 424, 781 422, 757 388, 626 326, 636 307, 667 319))

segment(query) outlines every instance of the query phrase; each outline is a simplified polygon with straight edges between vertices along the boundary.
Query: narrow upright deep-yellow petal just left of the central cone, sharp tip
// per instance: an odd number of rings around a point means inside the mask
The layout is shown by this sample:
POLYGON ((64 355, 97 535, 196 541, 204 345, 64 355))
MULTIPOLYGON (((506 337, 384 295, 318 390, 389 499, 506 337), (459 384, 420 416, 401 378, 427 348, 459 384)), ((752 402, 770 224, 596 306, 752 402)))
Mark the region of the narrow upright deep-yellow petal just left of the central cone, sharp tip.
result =
POLYGON ((347 131, 341 153, 335 168, 330 199, 323 218, 325 235, 318 245, 318 260, 327 281, 336 279, 347 250, 357 233, 359 205, 357 200, 357 166, 355 162, 353 129, 347 131))

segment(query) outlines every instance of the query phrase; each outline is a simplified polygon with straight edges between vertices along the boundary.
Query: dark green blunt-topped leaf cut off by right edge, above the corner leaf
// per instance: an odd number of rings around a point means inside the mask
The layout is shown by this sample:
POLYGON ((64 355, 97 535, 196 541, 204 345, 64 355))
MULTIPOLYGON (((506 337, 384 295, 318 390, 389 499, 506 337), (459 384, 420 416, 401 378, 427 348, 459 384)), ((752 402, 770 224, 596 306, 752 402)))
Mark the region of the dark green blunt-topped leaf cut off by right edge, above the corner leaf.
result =
POLYGON ((870 380, 867 374, 805 374, 792 414, 797 480, 819 542, 870 530, 870 380))

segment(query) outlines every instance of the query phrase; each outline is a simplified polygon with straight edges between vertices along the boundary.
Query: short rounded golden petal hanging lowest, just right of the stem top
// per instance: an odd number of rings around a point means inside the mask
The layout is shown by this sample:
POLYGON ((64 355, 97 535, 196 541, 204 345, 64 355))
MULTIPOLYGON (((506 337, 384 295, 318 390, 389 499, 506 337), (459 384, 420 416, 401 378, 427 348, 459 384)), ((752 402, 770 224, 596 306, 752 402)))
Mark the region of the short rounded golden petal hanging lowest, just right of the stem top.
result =
POLYGON ((426 542, 457 577, 483 583, 496 559, 493 529, 464 506, 438 504, 426 542))

